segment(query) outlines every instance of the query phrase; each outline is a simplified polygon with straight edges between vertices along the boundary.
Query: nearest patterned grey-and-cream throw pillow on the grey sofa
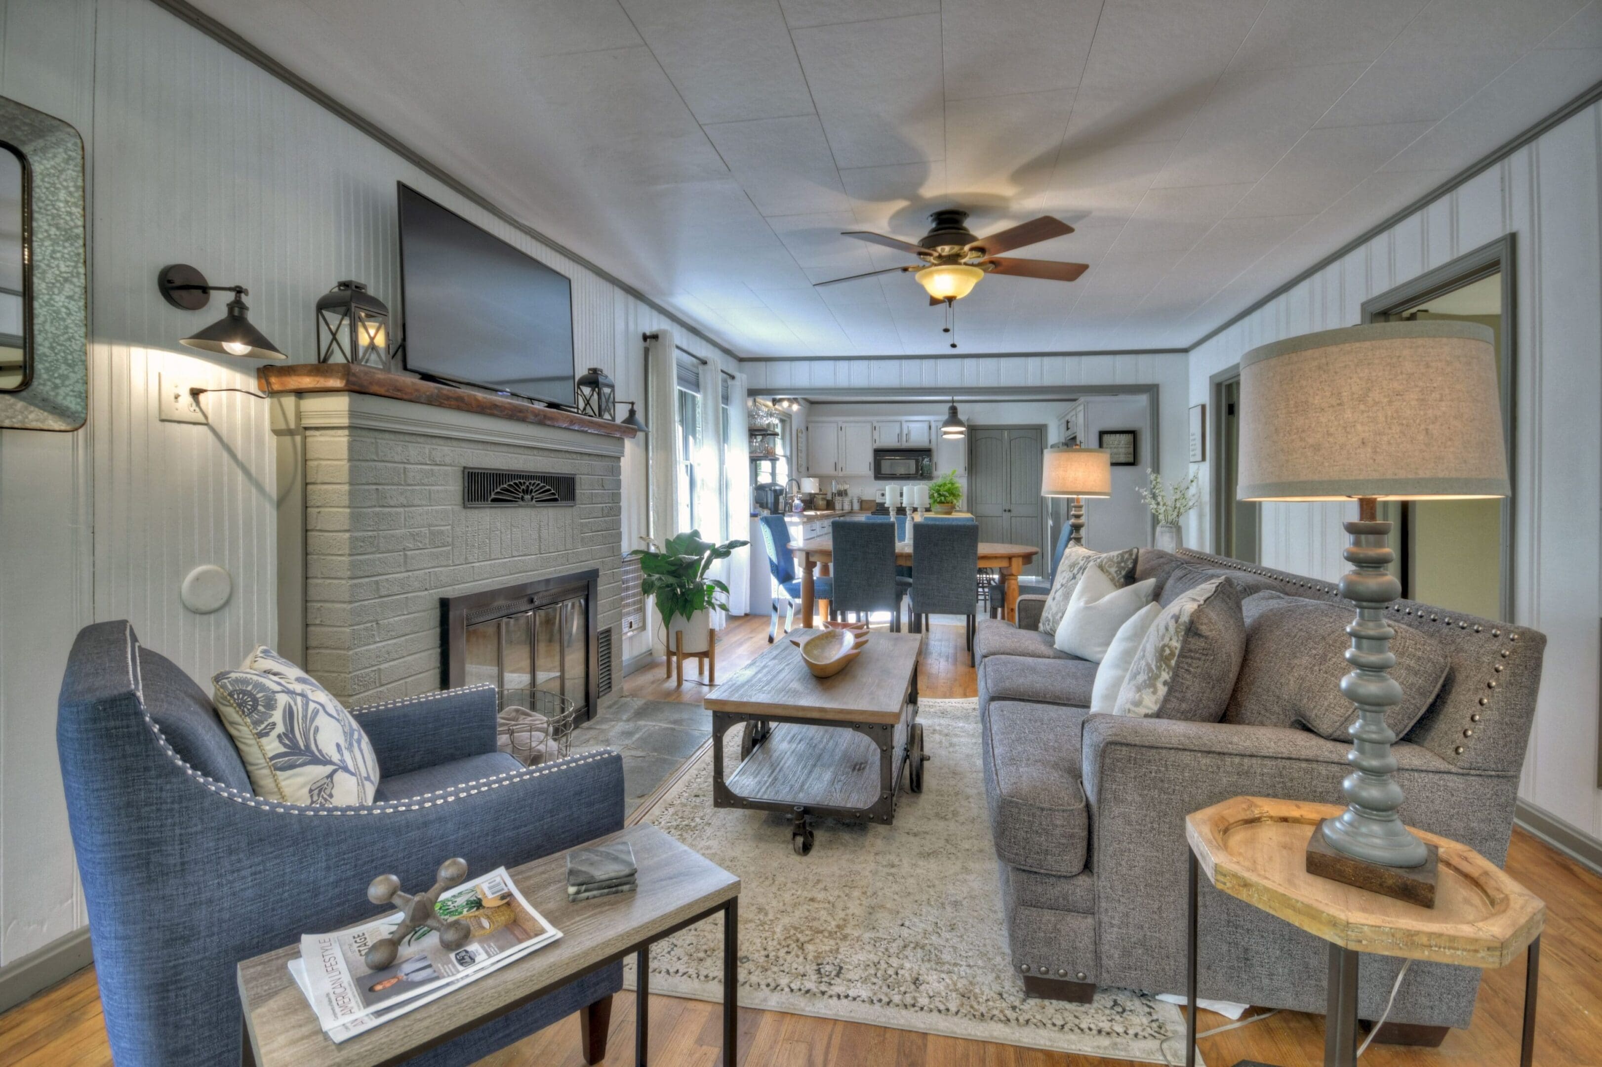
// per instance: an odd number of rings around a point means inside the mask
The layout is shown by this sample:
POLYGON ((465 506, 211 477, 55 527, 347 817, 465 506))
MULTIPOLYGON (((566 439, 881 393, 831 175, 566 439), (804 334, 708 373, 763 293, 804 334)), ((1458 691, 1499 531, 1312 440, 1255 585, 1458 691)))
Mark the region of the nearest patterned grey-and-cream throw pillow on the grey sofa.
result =
POLYGON ((1246 649, 1240 593, 1219 575, 1179 594, 1145 631, 1117 715, 1218 723, 1246 649))

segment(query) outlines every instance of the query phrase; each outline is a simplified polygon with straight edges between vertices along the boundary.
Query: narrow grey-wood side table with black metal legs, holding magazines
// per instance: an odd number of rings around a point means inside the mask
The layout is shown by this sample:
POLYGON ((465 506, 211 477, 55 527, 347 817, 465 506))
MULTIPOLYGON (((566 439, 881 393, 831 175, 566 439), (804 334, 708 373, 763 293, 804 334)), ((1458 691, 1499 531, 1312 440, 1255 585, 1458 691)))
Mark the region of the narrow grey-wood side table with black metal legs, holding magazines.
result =
MULTIPOLYGON (((630 827, 585 846, 604 841, 634 846, 639 889, 572 904, 567 899, 566 852, 514 868, 511 878, 517 889, 562 936, 455 993, 341 1045, 324 1035, 317 1014, 290 977, 288 961, 300 955, 300 945, 240 963, 239 1000, 245 1014, 242 1062, 260 1067, 399 1064, 638 953, 634 1061, 644 1067, 650 944, 719 912, 723 1062, 737 1062, 740 880, 650 825, 630 827)), ((588 1059, 588 1038, 585 1049, 588 1059)))

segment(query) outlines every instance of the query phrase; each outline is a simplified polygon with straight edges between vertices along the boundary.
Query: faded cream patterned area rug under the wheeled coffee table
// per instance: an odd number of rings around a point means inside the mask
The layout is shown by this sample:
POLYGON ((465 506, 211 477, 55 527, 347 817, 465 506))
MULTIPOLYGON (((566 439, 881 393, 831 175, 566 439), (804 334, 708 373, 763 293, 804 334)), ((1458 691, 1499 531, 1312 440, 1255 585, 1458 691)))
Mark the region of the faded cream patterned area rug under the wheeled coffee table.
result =
MULTIPOLYGON (((1094 1003, 1024 997, 1009 969, 985 817, 976 700, 918 705, 924 791, 889 827, 817 822, 811 856, 790 819, 711 806, 711 750, 649 803, 650 822, 740 876, 740 1005, 1085 1056, 1184 1062, 1184 1017, 1131 990, 1094 1003), (1168 1056, 1165 1057, 1163 1041, 1168 1056)), ((739 761, 729 731, 727 766, 739 761)), ((625 979, 633 988, 633 974, 625 979)), ((723 998, 723 928, 650 950, 650 992, 723 998)))

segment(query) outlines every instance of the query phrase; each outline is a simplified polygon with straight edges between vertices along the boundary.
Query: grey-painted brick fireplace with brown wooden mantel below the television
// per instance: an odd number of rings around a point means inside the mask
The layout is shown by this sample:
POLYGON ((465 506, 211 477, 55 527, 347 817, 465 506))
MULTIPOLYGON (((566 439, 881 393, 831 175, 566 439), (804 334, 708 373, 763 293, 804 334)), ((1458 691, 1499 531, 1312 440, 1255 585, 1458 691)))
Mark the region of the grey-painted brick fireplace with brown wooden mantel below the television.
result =
MULTIPOLYGON (((580 689, 591 713, 606 705, 622 674, 626 431, 343 364, 269 367, 261 385, 279 436, 279 644, 292 658, 348 703, 429 692, 450 679, 452 604, 577 578, 593 588, 580 689)), ((553 618, 580 625, 570 609, 553 618)), ((564 663, 577 670, 572 654, 564 663)))

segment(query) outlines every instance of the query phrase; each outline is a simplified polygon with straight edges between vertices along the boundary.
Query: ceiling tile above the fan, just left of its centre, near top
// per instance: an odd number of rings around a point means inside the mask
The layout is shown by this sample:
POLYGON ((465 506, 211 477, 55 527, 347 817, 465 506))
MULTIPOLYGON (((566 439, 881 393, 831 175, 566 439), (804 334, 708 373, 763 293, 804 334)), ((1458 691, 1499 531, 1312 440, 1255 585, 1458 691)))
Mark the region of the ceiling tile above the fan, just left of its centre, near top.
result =
POLYGON ((945 157, 940 16, 791 34, 839 167, 945 157))

